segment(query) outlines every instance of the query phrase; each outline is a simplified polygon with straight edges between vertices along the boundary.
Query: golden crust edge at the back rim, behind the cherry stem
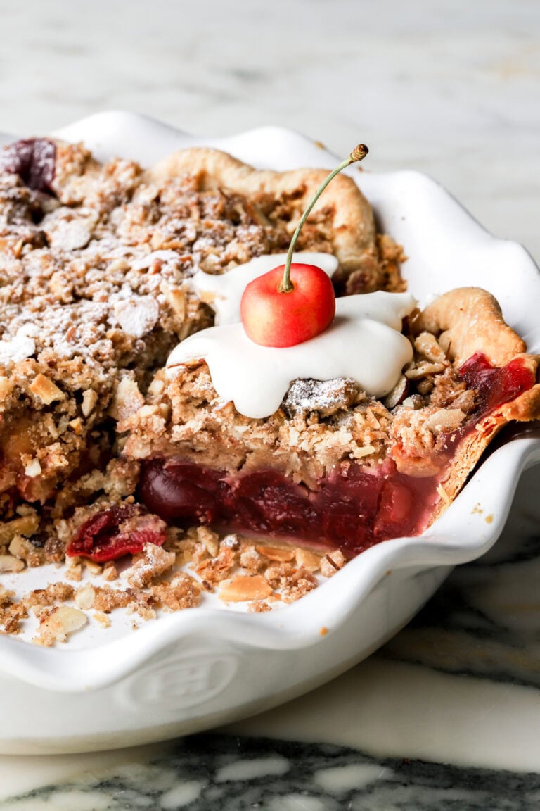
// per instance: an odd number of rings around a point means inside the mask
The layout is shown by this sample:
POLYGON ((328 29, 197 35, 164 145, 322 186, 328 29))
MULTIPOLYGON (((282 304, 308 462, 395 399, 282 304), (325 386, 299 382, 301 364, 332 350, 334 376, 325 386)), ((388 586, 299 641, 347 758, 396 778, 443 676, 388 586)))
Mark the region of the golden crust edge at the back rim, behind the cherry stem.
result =
MULTIPOLYGON (((198 176, 202 191, 222 187, 249 196, 300 192, 298 201, 300 208, 304 209, 328 172, 325 169, 293 169, 288 172, 253 169, 226 152, 192 148, 174 152, 160 161, 147 171, 146 179, 161 184, 167 178, 182 174, 198 176)), ((344 271, 362 264, 367 252, 375 254, 372 210, 354 180, 343 175, 334 178, 313 211, 323 208, 333 209, 334 251, 344 271)))

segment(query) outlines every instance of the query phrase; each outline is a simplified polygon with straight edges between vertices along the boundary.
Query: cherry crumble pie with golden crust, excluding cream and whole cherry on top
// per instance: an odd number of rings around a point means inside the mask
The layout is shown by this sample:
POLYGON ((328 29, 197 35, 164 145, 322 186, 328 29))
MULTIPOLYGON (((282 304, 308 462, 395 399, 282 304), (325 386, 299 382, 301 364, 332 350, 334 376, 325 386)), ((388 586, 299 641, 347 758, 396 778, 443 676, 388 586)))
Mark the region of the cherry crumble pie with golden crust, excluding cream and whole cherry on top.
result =
MULTIPOLYGON (((285 251, 324 174, 210 149, 147 170, 49 139, 3 150, 0 555, 16 539, 27 564, 103 562, 210 525, 350 557, 422 532, 504 423, 538 418, 538 358, 474 288, 406 320, 414 357, 382 400, 355 380, 292 380, 254 419, 204 361, 166 375, 172 348, 213 322, 189 279, 285 251)), ((337 257, 338 294, 405 287, 401 248, 350 178, 300 250, 337 257)))

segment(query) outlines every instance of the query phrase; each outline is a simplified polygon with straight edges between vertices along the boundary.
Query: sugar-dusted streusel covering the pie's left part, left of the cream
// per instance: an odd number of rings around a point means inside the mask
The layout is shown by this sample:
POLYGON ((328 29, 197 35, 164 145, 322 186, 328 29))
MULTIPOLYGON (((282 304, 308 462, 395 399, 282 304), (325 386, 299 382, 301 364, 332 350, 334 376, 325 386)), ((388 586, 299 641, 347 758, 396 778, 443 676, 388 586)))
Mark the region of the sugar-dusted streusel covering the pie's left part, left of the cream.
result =
MULTIPOLYGON (((172 347, 212 323, 186 280, 283 251, 302 191, 243 195, 198 171, 156 182, 80 144, 2 152, 0 512, 22 496, 56 499, 45 513, 62 514, 104 476, 114 489, 115 421, 125 430, 172 347)), ((309 222, 303 249, 333 250, 331 213, 309 222)), ((400 284, 395 251, 373 245, 371 264, 377 251, 389 286, 400 284)))

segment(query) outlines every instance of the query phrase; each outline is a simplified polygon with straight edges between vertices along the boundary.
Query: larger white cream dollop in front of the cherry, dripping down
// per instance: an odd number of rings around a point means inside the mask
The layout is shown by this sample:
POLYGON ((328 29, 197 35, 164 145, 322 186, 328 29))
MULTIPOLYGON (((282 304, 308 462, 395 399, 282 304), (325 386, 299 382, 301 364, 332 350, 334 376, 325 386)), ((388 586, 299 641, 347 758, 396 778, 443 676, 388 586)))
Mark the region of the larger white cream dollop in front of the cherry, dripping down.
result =
POLYGON ((273 414, 299 378, 351 377, 366 393, 384 397, 412 360, 410 341, 400 330, 403 317, 415 306, 410 293, 378 291, 338 298, 334 321, 324 333, 281 349, 253 343, 239 323, 210 327, 172 350, 168 375, 176 374, 175 367, 204 358, 219 397, 251 418, 273 414))

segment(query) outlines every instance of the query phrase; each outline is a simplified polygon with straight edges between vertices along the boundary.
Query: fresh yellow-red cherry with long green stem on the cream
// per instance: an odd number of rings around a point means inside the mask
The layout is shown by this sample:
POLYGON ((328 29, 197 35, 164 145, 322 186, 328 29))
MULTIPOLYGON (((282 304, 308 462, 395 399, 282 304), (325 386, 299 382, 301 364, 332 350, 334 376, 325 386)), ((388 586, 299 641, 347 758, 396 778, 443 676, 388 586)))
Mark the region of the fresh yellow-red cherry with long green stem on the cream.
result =
POLYGON ((246 286, 240 315, 245 333, 254 343, 279 348, 295 346, 324 332, 334 320, 336 299, 330 277, 315 264, 293 264, 292 254, 304 222, 330 181, 367 154, 368 147, 359 144, 330 172, 296 226, 285 264, 263 273, 246 286))

